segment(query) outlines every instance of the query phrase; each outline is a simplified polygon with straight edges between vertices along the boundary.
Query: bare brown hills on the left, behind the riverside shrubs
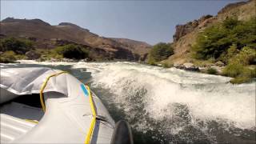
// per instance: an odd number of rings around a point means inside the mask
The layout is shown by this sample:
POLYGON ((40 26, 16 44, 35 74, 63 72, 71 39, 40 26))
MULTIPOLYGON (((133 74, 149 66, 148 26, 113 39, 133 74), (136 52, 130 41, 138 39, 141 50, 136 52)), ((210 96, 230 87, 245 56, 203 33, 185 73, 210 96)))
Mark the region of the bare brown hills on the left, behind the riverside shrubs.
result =
POLYGON ((29 38, 39 49, 54 49, 56 46, 75 43, 89 49, 94 59, 143 60, 150 49, 146 42, 100 37, 69 22, 51 26, 40 19, 6 18, 0 23, 2 37, 29 38))

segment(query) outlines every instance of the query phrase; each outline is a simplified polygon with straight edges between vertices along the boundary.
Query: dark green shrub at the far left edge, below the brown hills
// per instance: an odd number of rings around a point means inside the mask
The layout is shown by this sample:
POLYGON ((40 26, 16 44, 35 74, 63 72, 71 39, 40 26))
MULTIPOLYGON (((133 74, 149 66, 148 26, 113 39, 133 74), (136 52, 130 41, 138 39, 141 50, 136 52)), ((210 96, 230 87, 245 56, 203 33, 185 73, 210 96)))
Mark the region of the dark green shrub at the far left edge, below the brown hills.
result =
POLYGON ((26 51, 34 50, 33 42, 28 39, 3 38, 0 41, 0 51, 12 50, 16 54, 25 54, 26 51))

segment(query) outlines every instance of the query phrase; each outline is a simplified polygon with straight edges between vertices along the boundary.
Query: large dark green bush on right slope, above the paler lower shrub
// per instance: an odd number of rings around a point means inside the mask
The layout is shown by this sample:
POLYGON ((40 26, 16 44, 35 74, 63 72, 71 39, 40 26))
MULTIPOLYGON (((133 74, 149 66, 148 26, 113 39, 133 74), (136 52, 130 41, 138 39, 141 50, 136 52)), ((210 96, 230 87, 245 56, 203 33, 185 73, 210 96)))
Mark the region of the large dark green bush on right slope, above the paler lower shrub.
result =
POLYGON ((210 26, 198 34, 192 51, 194 58, 197 59, 220 58, 226 62, 228 59, 225 58, 226 54, 232 55, 244 46, 256 47, 255 41, 255 18, 247 22, 238 21, 236 18, 227 18, 224 22, 210 26))

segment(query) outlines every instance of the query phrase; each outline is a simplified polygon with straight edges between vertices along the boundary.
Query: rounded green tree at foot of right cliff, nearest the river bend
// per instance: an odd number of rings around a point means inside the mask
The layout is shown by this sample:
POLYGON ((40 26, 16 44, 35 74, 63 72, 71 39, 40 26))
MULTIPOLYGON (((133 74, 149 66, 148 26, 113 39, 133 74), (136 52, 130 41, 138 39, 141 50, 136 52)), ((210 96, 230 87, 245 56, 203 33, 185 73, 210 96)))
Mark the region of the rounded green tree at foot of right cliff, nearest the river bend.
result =
POLYGON ((169 43, 160 42, 150 50, 148 63, 160 62, 174 54, 174 49, 169 43))

